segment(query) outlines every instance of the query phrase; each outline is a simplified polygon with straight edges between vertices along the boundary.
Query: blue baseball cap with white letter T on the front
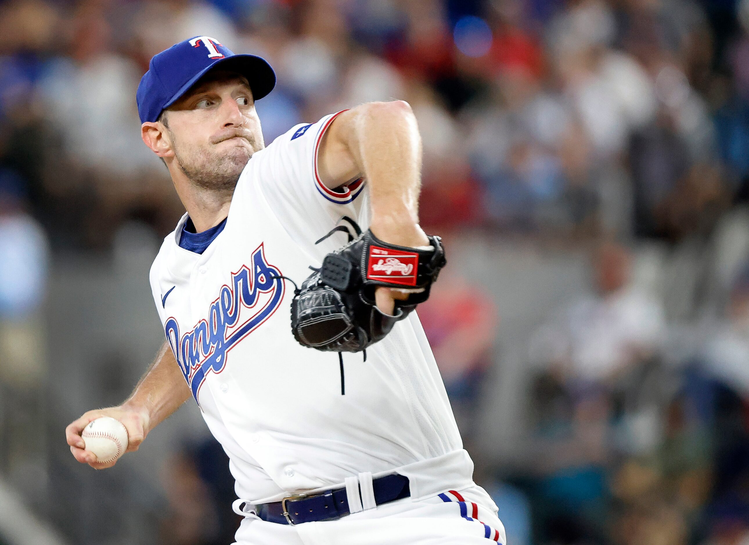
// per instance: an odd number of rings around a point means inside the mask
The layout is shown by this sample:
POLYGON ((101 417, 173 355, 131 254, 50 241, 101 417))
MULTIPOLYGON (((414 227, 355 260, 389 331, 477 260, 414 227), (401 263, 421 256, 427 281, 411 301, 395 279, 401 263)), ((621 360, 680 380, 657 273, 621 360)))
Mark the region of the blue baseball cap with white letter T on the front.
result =
POLYGON ((255 100, 273 91, 276 85, 276 73, 264 58, 235 55, 215 38, 195 36, 151 59, 136 93, 141 123, 157 121, 164 109, 175 103, 208 70, 219 66, 246 77, 255 100))

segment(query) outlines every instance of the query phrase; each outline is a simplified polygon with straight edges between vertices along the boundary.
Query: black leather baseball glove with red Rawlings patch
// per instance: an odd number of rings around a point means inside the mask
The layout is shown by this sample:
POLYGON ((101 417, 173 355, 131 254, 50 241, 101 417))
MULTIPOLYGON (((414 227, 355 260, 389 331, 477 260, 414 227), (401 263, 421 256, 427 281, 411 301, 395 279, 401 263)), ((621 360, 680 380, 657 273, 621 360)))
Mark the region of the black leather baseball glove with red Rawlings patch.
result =
MULTIPOLYGON (((291 301, 291 329, 306 347, 365 350, 428 299, 432 282, 446 264, 440 237, 428 237, 428 249, 395 246, 378 240, 372 231, 361 233, 353 220, 345 219, 359 237, 326 255, 320 270, 303 281, 291 301), (395 315, 389 316, 375 305, 378 286, 413 291, 408 299, 395 301, 395 315)), ((336 228, 330 234, 343 230, 336 228)))

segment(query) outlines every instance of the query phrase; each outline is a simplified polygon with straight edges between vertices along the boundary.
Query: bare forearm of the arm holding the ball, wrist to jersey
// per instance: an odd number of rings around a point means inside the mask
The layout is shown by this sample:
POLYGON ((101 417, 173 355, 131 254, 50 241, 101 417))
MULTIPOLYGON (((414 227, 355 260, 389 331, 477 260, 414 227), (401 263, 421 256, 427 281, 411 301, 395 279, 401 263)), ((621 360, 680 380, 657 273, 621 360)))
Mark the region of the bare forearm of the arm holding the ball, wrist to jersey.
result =
POLYGON ((147 412, 148 427, 153 429, 169 418, 189 396, 187 382, 165 342, 123 407, 147 412))

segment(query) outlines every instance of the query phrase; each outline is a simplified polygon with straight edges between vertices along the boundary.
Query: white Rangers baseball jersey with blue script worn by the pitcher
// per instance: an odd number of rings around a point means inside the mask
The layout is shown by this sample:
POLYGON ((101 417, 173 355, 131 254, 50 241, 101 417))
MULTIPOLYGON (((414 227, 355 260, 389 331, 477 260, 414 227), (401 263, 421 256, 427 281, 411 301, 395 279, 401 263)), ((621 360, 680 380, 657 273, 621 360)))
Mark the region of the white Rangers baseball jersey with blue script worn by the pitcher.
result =
MULTIPOLYGON (((369 224, 366 182, 327 189, 317 150, 336 117, 293 127, 249 160, 225 228, 201 254, 164 240, 151 288, 192 395, 228 454, 240 499, 340 486, 397 471, 414 499, 473 486, 473 463, 416 313, 361 353, 297 344, 293 286, 346 241, 315 241, 349 216, 369 224)), ((488 500, 491 503, 491 500, 488 500)), ((493 504, 492 504, 493 505, 493 504)))

